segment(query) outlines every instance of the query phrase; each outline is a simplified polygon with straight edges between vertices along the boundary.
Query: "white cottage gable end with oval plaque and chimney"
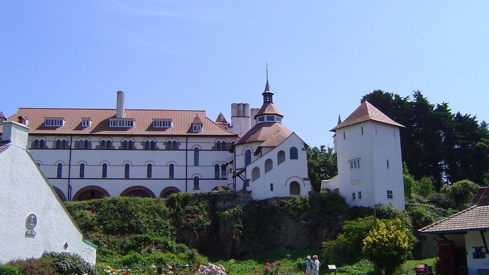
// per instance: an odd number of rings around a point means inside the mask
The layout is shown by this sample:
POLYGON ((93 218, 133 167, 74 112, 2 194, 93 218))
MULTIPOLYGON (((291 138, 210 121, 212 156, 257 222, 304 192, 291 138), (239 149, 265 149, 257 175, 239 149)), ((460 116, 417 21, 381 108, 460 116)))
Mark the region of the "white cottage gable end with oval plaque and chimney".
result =
POLYGON ((29 128, 3 122, 0 142, 0 262, 78 253, 95 264, 96 246, 83 235, 43 176, 27 146, 29 128))

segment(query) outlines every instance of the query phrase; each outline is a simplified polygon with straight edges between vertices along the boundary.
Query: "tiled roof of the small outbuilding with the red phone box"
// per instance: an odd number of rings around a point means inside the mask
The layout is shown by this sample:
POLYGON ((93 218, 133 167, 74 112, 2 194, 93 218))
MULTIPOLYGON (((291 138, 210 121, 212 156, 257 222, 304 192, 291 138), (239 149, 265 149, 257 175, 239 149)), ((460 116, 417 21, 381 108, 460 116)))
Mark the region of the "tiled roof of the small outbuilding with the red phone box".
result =
POLYGON ((489 206, 473 205, 440 221, 425 226, 420 233, 446 233, 489 228, 489 206))

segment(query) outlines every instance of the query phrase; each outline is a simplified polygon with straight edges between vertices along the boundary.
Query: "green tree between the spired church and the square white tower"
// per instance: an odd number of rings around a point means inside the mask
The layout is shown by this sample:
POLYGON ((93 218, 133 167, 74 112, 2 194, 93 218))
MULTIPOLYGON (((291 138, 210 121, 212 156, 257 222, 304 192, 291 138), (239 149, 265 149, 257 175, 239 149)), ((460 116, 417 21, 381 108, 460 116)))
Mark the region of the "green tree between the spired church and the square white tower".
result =
POLYGON ((330 179, 338 174, 336 153, 325 145, 307 148, 307 167, 312 189, 321 191, 321 180, 330 179))

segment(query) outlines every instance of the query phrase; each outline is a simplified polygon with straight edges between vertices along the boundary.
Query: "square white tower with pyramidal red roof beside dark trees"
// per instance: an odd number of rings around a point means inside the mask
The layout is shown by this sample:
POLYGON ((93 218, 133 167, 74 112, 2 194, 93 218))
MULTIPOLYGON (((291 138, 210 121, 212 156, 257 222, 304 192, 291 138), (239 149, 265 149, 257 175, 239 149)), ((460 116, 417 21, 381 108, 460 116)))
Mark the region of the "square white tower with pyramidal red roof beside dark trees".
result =
POLYGON ((365 101, 331 129, 338 158, 338 175, 321 188, 339 191, 353 206, 392 204, 404 210, 401 124, 365 101))

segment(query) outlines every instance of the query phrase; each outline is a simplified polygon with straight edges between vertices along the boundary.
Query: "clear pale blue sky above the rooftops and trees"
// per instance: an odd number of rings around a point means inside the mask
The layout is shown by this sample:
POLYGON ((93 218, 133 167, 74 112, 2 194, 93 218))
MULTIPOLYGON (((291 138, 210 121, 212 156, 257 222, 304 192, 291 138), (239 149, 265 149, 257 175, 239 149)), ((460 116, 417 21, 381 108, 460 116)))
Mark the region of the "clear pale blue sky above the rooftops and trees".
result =
POLYGON ((489 2, 0 2, 0 109, 262 104, 313 146, 375 89, 489 121, 489 2))

